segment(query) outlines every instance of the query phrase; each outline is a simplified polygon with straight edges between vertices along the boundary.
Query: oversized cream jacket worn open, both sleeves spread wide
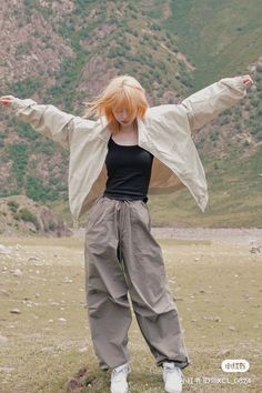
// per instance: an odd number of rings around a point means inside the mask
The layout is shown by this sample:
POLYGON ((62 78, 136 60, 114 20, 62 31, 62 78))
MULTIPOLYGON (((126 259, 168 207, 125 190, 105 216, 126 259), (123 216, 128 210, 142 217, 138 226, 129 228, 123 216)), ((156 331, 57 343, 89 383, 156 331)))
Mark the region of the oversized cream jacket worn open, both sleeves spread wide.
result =
MULTIPOLYGON (((181 104, 149 108, 138 121, 138 144, 154 155, 149 194, 172 193, 185 185, 204 211, 208 187, 191 138, 192 131, 245 95, 241 77, 226 78, 200 90, 181 104)), ((16 115, 40 133, 70 149, 69 205, 74 222, 105 188, 110 130, 97 121, 64 113, 31 99, 12 98, 16 115)))

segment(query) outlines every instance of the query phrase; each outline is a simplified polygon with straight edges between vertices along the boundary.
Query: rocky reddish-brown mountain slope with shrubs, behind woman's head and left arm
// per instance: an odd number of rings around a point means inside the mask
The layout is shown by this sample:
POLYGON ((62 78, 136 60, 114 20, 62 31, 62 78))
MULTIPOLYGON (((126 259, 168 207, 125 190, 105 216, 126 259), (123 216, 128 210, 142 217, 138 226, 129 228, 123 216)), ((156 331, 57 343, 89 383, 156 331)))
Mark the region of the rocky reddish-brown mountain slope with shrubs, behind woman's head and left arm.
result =
MULTIPOLYGON (((149 89, 151 104, 188 91, 180 80, 188 80, 187 62, 131 2, 67 1, 61 7, 60 1, 6 0, 1 7, 0 94, 30 97, 81 114, 83 101, 119 73, 137 77, 149 89)), ((0 195, 66 199, 67 152, 3 111, 0 124, 0 195)))

